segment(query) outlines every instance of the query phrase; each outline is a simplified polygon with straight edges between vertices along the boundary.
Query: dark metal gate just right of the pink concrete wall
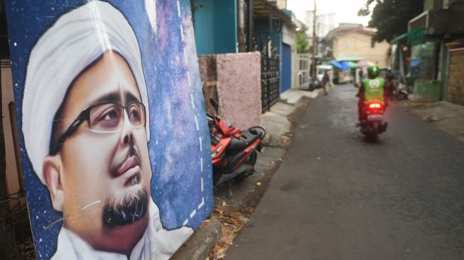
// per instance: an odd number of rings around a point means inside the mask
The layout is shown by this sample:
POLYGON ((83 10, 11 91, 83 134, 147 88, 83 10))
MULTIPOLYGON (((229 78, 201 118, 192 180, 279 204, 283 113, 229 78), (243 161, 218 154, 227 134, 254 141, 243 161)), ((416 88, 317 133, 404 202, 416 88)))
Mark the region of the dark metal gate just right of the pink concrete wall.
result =
POLYGON ((279 55, 272 48, 271 40, 261 50, 261 107, 262 111, 271 109, 279 100, 279 55))

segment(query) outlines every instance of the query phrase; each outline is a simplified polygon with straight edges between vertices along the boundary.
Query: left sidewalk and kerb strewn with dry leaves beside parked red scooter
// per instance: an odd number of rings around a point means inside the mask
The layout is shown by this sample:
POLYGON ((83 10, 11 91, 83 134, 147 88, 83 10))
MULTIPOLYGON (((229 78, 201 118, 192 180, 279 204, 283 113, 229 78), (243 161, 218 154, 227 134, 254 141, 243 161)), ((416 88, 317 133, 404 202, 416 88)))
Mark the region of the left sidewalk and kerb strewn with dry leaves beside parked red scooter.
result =
POLYGON ((279 168, 290 144, 296 120, 301 117, 319 91, 288 90, 269 112, 261 115, 266 129, 264 148, 258 155, 255 173, 240 183, 231 185, 232 199, 227 199, 226 185, 215 188, 215 207, 210 220, 206 220, 185 242, 172 259, 222 259, 234 237, 249 221, 264 194, 272 175, 279 168))

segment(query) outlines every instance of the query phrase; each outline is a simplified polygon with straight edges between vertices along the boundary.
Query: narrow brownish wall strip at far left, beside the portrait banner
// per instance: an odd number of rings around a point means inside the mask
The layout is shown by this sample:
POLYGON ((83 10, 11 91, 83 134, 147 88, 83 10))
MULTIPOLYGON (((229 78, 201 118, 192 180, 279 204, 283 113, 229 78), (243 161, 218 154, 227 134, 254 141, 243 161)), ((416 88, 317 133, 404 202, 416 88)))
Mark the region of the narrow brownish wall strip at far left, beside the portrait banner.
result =
POLYGON ((11 67, 9 60, 1 60, 1 102, 2 117, 5 134, 6 152, 6 186, 8 193, 18 192, 20 185, 18 170, 16 168, 16 158, 14 155, 13 134, 11 133, 11 121, 9 114, 9 103, 14 102, 13 82, 11 79, 11 67))

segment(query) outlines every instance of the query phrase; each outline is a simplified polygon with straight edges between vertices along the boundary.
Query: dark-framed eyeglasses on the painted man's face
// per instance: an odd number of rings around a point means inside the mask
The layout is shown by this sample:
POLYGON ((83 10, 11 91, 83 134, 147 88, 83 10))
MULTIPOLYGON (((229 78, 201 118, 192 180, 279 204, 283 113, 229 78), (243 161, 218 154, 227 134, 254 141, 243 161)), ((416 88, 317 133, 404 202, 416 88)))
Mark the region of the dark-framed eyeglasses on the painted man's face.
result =
POLYGON ((50 155, 57 154, 68 136, 72 135, 85 121, 88 122, 90 130, 95 133, 110 134, 120 131, 124 125, 124 110, 132 126, 139 128, 145 125, 145 106, 141 102, 131 102, 126 107, 116 102, 96 104, 84 109, 58 138, 55 145, 50 145, 50 155))

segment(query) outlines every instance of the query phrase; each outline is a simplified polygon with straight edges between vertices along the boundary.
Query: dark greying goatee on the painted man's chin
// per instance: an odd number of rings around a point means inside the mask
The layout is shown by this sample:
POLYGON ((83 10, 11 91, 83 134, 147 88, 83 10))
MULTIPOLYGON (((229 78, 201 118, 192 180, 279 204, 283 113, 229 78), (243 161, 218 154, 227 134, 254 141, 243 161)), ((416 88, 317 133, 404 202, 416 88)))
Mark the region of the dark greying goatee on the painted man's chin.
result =
POLYGON ((108 228, 120 227, 140 220, 149 207, 146 188, 117 197, 108 197, 103 207, 103 223, 108 228))

